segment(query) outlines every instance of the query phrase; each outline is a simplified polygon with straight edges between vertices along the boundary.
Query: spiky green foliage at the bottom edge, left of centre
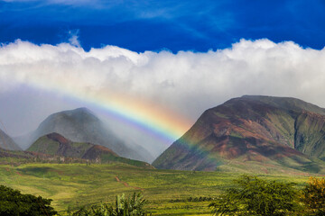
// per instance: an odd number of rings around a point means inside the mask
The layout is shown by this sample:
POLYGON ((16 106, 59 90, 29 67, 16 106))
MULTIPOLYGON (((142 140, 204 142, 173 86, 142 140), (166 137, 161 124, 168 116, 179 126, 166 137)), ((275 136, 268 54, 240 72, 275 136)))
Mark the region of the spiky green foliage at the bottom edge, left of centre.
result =
POLYGON ((115 206, 107 203, 92 206, 90 210, 85 208, 73 212, 72 216, 145 216, 148 215, 144 210, 146 201, 142 193, 133 194, 125 198, 125 194, 116 196, 115 206))

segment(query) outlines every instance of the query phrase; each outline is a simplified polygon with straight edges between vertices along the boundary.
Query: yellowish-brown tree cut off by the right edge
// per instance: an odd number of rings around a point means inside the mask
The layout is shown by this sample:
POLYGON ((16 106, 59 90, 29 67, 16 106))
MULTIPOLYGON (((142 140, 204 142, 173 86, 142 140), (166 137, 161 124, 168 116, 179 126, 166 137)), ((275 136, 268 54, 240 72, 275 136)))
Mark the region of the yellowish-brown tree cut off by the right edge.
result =
POLYGON ((311 177, 302 189, 302 202, 309 215, 325 215, 325 179, 311 177))

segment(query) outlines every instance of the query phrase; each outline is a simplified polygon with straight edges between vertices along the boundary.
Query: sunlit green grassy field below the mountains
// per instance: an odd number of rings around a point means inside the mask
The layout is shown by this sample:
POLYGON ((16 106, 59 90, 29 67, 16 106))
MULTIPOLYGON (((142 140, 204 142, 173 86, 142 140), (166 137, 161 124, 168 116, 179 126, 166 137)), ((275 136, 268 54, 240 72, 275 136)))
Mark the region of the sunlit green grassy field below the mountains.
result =
MULTIPOLYGON (((302 186, 303 173, 263 174, 266 179, 295 182, 302 186)), ((51 198, 61 214, 98 202, 114 202, 116 194, 143 191, 153 215, 209 215, 209 202, 233 184, 241 173, 235 171, 192 172, 144 169, 123 164, 25 164, 1 165, 1 184, 22 193, 51 198), (195 201, 189 201, 189 198, 195 201)))

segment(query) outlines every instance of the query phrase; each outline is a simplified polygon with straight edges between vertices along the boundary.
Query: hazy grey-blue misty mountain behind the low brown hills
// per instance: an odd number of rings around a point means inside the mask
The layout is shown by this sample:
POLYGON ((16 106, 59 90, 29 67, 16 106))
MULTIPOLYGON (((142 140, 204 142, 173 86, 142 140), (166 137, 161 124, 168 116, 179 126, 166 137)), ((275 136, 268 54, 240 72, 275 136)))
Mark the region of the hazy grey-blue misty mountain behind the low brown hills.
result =
POLYGON ((112 149, 122 157, 150 161, 150 153, 138 146, 128 146, 118 139, 98 117, 87 108, 79 108, 51 114, 37 130, 15 139, 23 149, 29 148, 36 139, 56 132, 74 142, 89 142, 112 149))

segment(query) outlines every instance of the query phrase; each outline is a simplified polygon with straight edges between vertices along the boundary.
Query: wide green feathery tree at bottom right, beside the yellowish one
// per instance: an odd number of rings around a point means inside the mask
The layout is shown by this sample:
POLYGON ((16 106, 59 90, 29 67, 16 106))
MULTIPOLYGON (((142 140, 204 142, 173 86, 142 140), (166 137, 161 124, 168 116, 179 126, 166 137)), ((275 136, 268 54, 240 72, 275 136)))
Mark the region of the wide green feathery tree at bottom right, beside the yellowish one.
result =
POLYGON ((243 175, 235 181, 236 187, 221 194, 209 204, 214 215, 292 215, 298 193, 294 184, 265 181, 243 175))

